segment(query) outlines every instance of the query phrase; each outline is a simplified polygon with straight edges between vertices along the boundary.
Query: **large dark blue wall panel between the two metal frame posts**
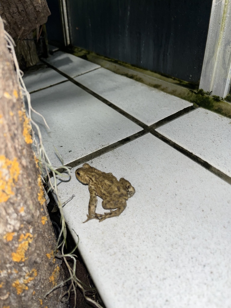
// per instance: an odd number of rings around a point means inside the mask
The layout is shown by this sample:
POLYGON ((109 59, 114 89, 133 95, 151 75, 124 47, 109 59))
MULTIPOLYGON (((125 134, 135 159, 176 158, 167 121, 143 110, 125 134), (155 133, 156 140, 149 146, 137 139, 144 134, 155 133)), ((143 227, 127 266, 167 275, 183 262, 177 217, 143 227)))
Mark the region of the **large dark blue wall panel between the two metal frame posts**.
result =
POLYGON ((71 43, 198 83, 212 0, 67 0, 71 43))

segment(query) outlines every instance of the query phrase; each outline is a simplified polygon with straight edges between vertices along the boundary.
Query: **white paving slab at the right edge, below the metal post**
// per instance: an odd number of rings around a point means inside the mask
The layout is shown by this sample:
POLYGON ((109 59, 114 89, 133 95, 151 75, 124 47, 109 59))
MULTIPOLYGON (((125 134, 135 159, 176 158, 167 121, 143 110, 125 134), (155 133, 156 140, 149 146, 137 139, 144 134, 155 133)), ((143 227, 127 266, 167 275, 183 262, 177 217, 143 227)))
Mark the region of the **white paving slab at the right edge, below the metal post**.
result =
POLYGON ((198 108, 157 132, 231 176, 231 120, 198 108))

